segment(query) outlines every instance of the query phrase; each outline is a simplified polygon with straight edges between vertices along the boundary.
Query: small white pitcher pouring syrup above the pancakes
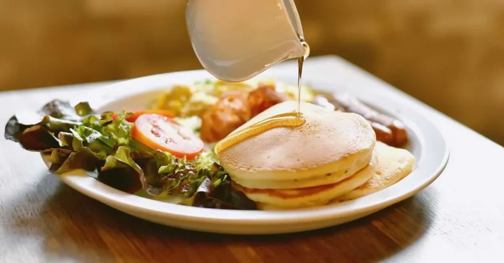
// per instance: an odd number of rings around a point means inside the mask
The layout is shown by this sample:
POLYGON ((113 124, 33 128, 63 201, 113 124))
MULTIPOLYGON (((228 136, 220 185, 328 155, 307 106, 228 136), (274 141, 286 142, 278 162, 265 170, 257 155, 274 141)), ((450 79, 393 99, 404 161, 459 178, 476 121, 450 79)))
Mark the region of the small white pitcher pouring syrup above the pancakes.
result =
POLYGON ((201 64, 224 81, 309 52, 293 0, 189 0, 185 19, 201 64))

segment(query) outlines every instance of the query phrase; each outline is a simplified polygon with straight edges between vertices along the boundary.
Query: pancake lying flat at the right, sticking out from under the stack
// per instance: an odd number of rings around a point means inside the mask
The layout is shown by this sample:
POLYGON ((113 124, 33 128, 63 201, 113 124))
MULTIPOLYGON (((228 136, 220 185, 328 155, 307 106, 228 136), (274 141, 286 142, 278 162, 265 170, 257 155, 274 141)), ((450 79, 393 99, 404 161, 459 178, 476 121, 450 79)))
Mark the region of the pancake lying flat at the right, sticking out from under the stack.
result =
POLYGON ((338 197, 338 200, 355 199, 386 189, 410 174, 415 165, 415 156, 405 149, 395 148, 377 141, 375 152, 378 166, 371 179, 362 186, 338 197))

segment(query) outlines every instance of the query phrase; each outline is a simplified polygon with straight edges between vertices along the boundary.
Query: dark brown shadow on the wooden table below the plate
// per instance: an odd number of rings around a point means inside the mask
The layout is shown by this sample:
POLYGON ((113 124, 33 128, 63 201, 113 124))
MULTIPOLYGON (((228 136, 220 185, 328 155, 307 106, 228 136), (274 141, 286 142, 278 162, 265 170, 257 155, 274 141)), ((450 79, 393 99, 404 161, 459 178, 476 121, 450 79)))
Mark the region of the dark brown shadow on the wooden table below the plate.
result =
MULTIPOLYGON (((16 216, 16 234, 41 238, 46 254, 59 259, 102 261, 124 257, 156 261, 178 256, 180 260, 196 261, 233 257, 240 260, 244 256, 262 260, 367 262, 387 258, 415 242, 435 216, 427 205, 426 189, 399 204, 335 227, 293 234, 224 235, 181 230, 135 218, 74 191, 51 174, 42 177, 39 188, 44 185, 53 185, 55 191, 39 200, 42 209, 37 220, 16 216)), ((32 202, 22 197, 16 201, 18 204, 32 202)))

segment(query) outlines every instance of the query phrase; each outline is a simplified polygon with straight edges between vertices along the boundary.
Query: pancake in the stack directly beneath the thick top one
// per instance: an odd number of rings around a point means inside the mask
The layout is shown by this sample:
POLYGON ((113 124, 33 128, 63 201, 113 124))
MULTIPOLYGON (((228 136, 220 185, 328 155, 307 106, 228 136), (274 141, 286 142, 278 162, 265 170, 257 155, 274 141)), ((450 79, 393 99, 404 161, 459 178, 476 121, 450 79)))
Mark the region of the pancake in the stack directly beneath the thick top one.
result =
POLYGON ((377 160, 373 154, 367 166, 336 184, 302 189, 250 189, 237 184, 233 184, 233 187, 243 192, 250 200, 260 203, 263 208, 285 209, 320 206, 367 182, 374 174, 376 167, 377 160))

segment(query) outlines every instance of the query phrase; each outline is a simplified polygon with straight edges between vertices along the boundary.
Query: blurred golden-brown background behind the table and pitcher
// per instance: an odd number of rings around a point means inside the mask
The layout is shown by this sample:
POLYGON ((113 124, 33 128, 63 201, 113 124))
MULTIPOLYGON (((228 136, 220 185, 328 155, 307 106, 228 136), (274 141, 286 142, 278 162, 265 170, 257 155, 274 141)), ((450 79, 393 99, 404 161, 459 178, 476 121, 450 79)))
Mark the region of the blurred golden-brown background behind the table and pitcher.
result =
MULTIPOLYGON (((341 56, 504 145, 504 1, 295 3, 310 56, 341 56)), ((0 0, 0 91, 201 68, 185 5, 0 0)))

